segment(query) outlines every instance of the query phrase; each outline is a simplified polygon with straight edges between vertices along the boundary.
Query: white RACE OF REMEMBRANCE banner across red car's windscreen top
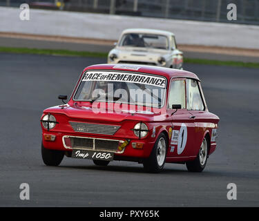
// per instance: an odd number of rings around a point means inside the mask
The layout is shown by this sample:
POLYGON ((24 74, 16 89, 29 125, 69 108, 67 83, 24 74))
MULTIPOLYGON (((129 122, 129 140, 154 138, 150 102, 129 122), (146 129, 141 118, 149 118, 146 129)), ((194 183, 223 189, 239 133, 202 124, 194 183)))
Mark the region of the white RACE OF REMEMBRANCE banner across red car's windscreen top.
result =
POLYGON ((82 81, 123 81, 136 84, 148 84, 160 88, 166 87, 166 79, 164 77, 111 71, 88 71, 84 74, 82 81))

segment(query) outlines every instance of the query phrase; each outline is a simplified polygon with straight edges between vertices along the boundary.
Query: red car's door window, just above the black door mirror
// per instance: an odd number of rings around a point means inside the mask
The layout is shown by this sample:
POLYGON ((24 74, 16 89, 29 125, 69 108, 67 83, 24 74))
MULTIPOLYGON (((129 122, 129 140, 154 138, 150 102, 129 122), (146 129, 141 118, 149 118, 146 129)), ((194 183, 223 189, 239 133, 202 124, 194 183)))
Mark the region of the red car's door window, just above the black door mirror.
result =
POLYGON ((185 109, 185 97, 185 81, 171 81, 168 108, 172 108, 173 104, 181 104, 182 109, 185 109))

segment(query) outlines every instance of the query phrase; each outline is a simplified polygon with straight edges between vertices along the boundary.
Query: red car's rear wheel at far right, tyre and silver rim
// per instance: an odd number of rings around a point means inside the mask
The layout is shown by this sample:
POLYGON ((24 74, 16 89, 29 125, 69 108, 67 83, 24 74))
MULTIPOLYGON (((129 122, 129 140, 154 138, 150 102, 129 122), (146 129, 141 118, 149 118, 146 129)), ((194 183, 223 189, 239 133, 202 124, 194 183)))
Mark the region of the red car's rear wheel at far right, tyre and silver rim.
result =
POLYGON ((207 138, 204 137, 198 156, 191 162, 186 162, 186 167, 189 172, 202 172, 207 164, 208 159, 208 144, 207 138))

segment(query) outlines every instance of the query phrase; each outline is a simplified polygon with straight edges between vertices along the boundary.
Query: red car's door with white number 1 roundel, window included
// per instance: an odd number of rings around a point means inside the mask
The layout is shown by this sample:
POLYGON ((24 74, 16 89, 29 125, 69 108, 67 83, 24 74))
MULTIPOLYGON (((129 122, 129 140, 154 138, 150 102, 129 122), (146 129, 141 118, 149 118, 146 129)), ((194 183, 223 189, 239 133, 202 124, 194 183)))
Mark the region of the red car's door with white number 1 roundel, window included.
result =
POLYGON ((184 160, 193 152, 194 139, 194 121, 191 113, 186 109, 186 81, 184 78, 171 79, 167 104, 172 121, 168 158, 184 160), (175 105, 178 105, 178 109, 175 109, 175 105))

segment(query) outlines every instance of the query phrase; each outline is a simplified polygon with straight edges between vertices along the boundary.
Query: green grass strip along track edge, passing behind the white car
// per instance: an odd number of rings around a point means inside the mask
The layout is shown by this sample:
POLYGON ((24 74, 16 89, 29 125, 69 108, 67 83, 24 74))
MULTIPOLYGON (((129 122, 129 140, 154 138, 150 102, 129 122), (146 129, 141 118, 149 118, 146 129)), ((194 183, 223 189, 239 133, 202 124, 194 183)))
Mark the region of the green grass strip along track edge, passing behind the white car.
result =
MULTIPOLYGON (((34 55, 61 55, 61 56, 77 56, 77 57, 99 57, 106 58, 106 52, 89 52, 76 50, 61 50, 61 49, 39 49, 39 48, 9 48, 0 47, 0 52, 19 53, 19 54, 34 54, 34 55)), ((258 58, 259 60, 259 58, 258 58)), ((218 61, 210 59, 195 59, 184 57, 184 63, 189 64, 207 64, 216 66, 236 66, 244 68, 259 68, 258 63, 242 62, 242 61, 218 61)))

